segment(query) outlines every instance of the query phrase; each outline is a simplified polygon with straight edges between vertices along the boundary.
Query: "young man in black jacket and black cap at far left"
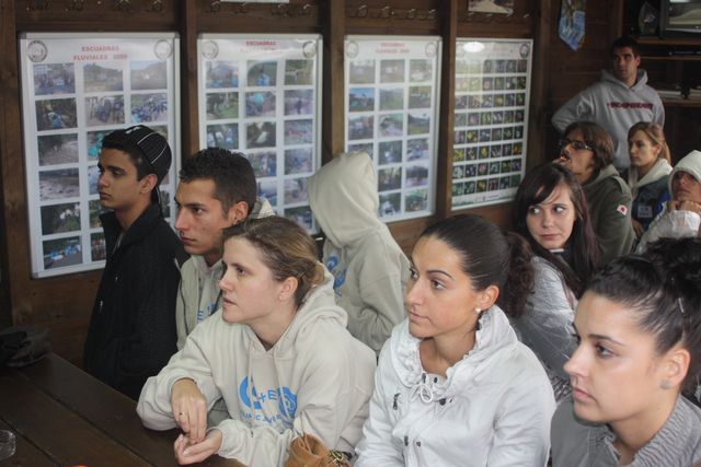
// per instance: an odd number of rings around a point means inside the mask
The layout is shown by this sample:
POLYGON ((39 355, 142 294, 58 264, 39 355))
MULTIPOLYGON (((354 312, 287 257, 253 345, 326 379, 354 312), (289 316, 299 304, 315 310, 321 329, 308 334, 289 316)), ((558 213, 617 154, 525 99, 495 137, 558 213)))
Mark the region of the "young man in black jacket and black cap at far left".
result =
POLYGON ((176 351, 177 262, 187 254, 158 195, 171 160, 168 141, 142 125, 107 135, 100 151, 107 262, 83 359, 89 373, 133 399, 176 351))

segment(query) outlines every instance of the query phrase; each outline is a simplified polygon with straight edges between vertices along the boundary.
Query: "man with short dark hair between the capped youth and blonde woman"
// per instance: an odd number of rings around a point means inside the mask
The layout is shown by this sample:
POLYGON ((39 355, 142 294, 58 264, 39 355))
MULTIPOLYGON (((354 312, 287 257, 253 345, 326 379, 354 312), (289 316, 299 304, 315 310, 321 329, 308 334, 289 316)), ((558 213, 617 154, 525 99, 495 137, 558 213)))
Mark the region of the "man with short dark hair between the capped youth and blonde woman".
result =
POLYGON ((175 324, 177 349, 198 323, 221 307, 219 280, 221 232, 249 215, 274 215, 269 202, 256 198, 251 163, 240 153, 207 148, 187 157, 180 171, 175 194, 179 206, 175 229, 192 256, 181 267, 175 324))

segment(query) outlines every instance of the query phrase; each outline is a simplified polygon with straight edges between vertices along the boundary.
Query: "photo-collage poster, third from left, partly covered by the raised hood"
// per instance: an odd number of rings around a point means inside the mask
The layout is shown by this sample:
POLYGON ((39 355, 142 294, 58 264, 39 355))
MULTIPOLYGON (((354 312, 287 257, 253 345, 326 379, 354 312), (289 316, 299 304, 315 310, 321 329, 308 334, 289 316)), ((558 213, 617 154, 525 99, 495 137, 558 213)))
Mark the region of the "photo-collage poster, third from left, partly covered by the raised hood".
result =
POLYGON ((345 148, 366 152, 386 221, 435 209, 439 37, 346 36, 345 148))

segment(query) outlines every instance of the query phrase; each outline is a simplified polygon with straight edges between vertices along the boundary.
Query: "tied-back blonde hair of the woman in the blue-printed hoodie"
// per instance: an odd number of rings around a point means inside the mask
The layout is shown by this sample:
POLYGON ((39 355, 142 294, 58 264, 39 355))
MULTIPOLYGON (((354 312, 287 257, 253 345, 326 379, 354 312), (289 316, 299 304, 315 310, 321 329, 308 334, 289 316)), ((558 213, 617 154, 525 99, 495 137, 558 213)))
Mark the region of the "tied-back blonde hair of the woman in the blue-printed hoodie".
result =
POLYGON ((277 215, 252 219, 223 230, 222 243, 232 237, 251 242, 278 282, 297 279, 295 303, 299 307, 307 293, 324 280, 317 258, 317 245, 296 222, 277 215))

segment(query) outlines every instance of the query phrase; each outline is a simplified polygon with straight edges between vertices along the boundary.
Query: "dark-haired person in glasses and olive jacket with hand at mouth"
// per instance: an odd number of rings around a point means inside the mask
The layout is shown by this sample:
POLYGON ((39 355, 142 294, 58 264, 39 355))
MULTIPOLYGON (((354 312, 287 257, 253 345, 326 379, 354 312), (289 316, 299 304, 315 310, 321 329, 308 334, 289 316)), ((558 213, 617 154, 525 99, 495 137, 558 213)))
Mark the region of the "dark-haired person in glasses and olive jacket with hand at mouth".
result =
POLYGON ((577 178, 589 205, 602 265, 633 248, 635 232, 631 223, 631 190, 613 164, 613 141, 591 121, 575 121, 560 141, 558 163, 577 178))

